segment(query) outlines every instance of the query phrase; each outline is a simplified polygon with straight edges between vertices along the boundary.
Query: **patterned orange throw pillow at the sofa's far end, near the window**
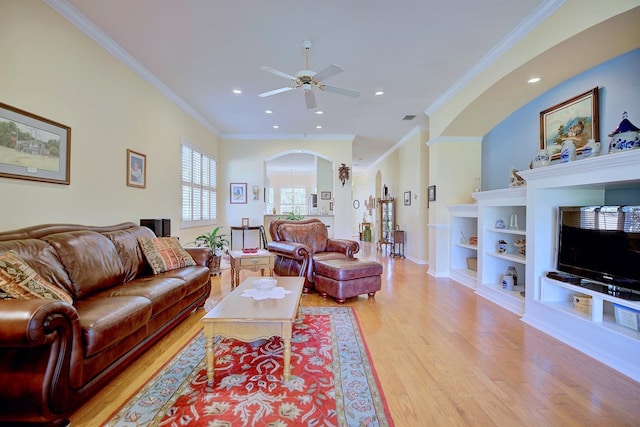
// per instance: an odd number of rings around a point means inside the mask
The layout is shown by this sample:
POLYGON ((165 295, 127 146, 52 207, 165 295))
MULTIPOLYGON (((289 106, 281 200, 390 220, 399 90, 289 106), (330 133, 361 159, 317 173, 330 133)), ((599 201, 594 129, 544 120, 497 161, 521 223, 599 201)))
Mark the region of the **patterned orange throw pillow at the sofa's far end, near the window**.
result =
POLYGON ((191 255, 180 246, 180 242, 175 237, 139 237, 138 243, 153 274, 196 265, 191 255))

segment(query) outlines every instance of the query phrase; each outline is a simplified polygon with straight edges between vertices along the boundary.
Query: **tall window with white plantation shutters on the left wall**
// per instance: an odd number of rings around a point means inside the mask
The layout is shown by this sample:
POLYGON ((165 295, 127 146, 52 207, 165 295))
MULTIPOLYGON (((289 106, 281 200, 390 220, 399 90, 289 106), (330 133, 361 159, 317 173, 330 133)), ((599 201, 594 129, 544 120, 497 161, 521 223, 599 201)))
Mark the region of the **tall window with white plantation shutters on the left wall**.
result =
POLYGON ((213 224, 216 219, 216 161, 182 144, 182 225, 213 224))

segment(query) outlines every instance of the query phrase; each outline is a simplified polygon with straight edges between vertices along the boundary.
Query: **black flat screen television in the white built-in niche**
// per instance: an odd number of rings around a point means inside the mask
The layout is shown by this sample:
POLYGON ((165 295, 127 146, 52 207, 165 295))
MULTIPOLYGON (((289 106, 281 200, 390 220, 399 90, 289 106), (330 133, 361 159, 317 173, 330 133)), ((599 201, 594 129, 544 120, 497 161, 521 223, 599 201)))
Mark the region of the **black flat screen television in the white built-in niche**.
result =
POLYGON ((640 293, 640 206, 563 206, 558 230, 559 271, 640 293))

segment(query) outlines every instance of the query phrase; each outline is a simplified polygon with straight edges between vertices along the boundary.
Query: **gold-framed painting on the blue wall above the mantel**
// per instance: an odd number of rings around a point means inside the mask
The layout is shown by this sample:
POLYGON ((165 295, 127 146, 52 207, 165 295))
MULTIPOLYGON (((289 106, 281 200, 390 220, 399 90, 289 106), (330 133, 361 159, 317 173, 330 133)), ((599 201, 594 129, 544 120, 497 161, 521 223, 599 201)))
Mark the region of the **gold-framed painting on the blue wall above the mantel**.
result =
POLYGON ((589 139, 599 137, 597 87, 540 112, 540 148, 547 150, 552 160, 560 158, 567 140, 580 154, 589 139))

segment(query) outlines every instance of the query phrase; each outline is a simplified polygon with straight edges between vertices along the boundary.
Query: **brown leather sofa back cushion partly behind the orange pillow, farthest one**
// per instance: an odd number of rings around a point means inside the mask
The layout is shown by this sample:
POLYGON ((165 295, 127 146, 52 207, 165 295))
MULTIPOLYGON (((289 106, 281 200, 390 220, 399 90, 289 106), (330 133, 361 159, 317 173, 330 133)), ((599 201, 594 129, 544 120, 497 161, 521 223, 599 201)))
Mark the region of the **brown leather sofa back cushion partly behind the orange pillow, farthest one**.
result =
POLYGON ((154 238, 156 236, 153 234, 153 231, 147 227, 133 227, 127 230, 109 231, 103 234, 113 242, 118 251, 118 255, 120 255, 125 273, 125 282, 151 272, 149 264, 147 264, 142 249, 138 244, 138 238, 154 238))

